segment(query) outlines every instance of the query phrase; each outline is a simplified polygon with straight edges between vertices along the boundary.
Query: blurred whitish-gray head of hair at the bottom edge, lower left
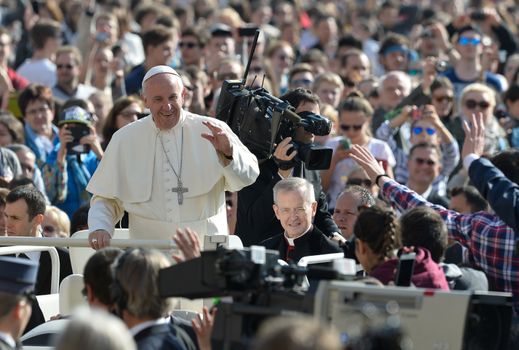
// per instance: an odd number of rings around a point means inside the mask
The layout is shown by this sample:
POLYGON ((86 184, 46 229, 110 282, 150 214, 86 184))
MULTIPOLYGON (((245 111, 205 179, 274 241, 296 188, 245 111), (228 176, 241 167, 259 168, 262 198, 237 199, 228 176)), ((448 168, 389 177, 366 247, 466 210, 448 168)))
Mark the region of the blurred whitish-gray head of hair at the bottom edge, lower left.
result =
POLYGON ((61 333, 56 350, 136 350, 123 321, 102 310, 79 309, 61 333))

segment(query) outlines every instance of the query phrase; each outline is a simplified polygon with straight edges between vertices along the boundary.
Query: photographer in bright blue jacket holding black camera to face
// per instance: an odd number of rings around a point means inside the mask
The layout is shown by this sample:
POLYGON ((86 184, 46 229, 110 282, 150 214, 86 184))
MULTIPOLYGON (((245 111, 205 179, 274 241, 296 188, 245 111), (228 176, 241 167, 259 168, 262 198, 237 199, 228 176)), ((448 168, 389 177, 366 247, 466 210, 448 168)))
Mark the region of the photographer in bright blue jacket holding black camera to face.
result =
POLYGON ((103 157, 92 122, 91 113, 83 108, 66 108, 58 122, 59 142, 42 168, 49 200, 69 217, 88 203, 86 185, 103 157))

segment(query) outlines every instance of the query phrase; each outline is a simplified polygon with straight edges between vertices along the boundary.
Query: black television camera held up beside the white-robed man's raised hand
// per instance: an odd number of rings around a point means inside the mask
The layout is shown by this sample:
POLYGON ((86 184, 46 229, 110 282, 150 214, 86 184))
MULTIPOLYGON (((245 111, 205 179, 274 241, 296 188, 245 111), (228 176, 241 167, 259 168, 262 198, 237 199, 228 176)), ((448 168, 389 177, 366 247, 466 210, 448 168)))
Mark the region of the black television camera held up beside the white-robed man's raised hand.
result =
MULTIPOLYGON (((243 144, 263 162, 272 156, 276 144, 286 137, 294 139, 298 127, 317 136, 328 135, 331 122, 317 114, 296 114, 294 106, 272 96, 266 89, 246 86, 247 75, 254 55, 259 30, 256 31, 251 53, 242 80, 225 80, 216 107, 216 117, 227 123, 243 144)), ((309 170, 330 167, 332 149, 315 144, 293 141, 297 156, 292 162, 283 163, 290 169, 303 162, 309 170)))

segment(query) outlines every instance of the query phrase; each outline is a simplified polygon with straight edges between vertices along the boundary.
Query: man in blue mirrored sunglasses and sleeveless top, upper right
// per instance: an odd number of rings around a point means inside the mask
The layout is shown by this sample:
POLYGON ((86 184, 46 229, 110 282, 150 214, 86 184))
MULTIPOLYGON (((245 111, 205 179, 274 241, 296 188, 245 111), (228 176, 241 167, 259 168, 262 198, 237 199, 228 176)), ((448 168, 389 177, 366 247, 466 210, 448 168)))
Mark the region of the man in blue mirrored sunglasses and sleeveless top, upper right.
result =
POLYGON ((504 91, 502 81, 494 73, 483 71, 481 55, 483 53, 483 37, 476 27, 465 26, 458 30, 453 46, 460 59, 453 67, 443 73, 454 85, 454 96, 460 96, 467 85, 483 80, 498 92, 504 91))

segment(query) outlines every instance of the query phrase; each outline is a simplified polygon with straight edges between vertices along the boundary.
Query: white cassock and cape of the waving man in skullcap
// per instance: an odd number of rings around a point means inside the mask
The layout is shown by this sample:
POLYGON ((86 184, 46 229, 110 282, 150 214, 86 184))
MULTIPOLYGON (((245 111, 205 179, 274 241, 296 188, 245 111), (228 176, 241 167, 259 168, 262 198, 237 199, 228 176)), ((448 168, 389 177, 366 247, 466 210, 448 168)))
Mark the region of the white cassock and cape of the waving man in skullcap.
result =
POLYGON ((89 231, 103 229, 112 235, 126 210, 134 239, 171 239, 177 228, 185 227, 200 237, 228 234, 224 191, 238 191, 254 183, 258 174, 256 157, 224 122, 182 111, 174 128, 160 131, 151 116, 145 117, 113 135, 87 186, 93 194, 89 231), (231 135, 233 160, 227 166, 223 166, 223 156, 201 137, 211 134, 203 121, 231 135), (177 174, 182 159, 180 175, 188 191, 181 205, 174 192, 177 176, 164 151, 177 174))

